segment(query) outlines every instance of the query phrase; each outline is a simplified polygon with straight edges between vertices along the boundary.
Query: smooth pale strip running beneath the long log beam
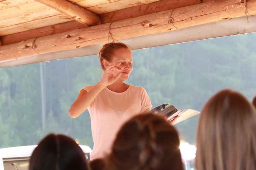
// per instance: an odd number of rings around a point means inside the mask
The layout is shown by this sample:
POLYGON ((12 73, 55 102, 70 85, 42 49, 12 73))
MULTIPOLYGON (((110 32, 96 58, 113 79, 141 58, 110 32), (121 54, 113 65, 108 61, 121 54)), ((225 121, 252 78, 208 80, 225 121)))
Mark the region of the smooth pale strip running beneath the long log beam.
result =
MULTIPOLYGON (((181 30, 175 30, 171 32, 122 39, 122 42, 129 45, 131 49, 134 50, 149 47, 165 46, 177 43, 185 43, 208 38, 224 37, 231 35, 240 36, 240 34, 256 32, 256 27, 254 26, 256 23, 256 15, 250 16, 248 19, 249 23, 247 23, 247 19, 245 16, 233 19, 226 19, 218 22, 212 22, 199 26, 187 27, 181 30)), ((99 54, 99 51, 104 44, 105 43, 100 43, 73 50, 46 53, 41 55, 35 55, 33 57, 26 57, 19 60, 2 62, 0 63, 0 68, 48 62, 71 57, 97 55, 99 54)))

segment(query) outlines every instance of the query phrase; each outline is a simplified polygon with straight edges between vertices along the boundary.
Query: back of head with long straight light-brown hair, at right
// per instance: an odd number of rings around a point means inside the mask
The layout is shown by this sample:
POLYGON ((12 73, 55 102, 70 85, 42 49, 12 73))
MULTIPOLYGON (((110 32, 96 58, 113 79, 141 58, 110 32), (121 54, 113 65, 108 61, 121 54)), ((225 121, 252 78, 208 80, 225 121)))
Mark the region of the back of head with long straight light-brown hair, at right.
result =
POLYGON ((202 109, 196 141, 197 170, 255 170, 255 108, 239 92, 218 92, 202 109))

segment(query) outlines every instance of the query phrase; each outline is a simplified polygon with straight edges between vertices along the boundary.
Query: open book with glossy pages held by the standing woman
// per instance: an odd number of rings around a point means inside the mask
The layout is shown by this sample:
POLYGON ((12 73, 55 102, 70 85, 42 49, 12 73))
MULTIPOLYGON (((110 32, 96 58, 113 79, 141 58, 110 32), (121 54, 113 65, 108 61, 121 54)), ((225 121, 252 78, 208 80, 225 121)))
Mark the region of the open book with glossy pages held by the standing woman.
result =
POLYGON ((179 123, 187 118, 195 116, 200 112, 193 109, 178 110, 175 106, 169 103, 164 103, 152 108, 148 113, 153 113, 165 117, 168 121, 172 121, 175 116, 179 116, 172 124, 179 123))

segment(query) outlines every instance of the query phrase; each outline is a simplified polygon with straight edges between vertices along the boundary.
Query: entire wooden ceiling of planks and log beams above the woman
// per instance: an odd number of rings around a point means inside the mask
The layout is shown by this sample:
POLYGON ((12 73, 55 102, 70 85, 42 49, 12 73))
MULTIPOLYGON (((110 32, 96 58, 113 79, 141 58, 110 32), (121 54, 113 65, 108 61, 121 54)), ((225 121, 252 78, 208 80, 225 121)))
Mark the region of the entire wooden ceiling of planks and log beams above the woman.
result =
POLYGON ((255 13, 256 0, 0 0, 0 63, 255 13))

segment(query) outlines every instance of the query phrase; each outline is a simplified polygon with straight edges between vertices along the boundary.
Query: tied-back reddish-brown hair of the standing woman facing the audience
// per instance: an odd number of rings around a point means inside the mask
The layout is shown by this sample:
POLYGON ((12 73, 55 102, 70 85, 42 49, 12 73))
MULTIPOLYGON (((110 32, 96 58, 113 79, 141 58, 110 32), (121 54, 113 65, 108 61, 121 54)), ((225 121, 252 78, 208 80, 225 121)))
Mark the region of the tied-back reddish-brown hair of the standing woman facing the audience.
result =
POLYGON ((111 62, 112 57, 115 53, 115 50, 122 49, 122 48, 131 50, 131 48, 128 45, 126 45, 124 43, 120 43, 120 42, 119 43, 108 43, 102 47, 102 49, 99 52, 100 65, 101 65, 102 70, 105 70, 105 67, 104 67, 102 61, 106 60, 108 62, 111 62))

